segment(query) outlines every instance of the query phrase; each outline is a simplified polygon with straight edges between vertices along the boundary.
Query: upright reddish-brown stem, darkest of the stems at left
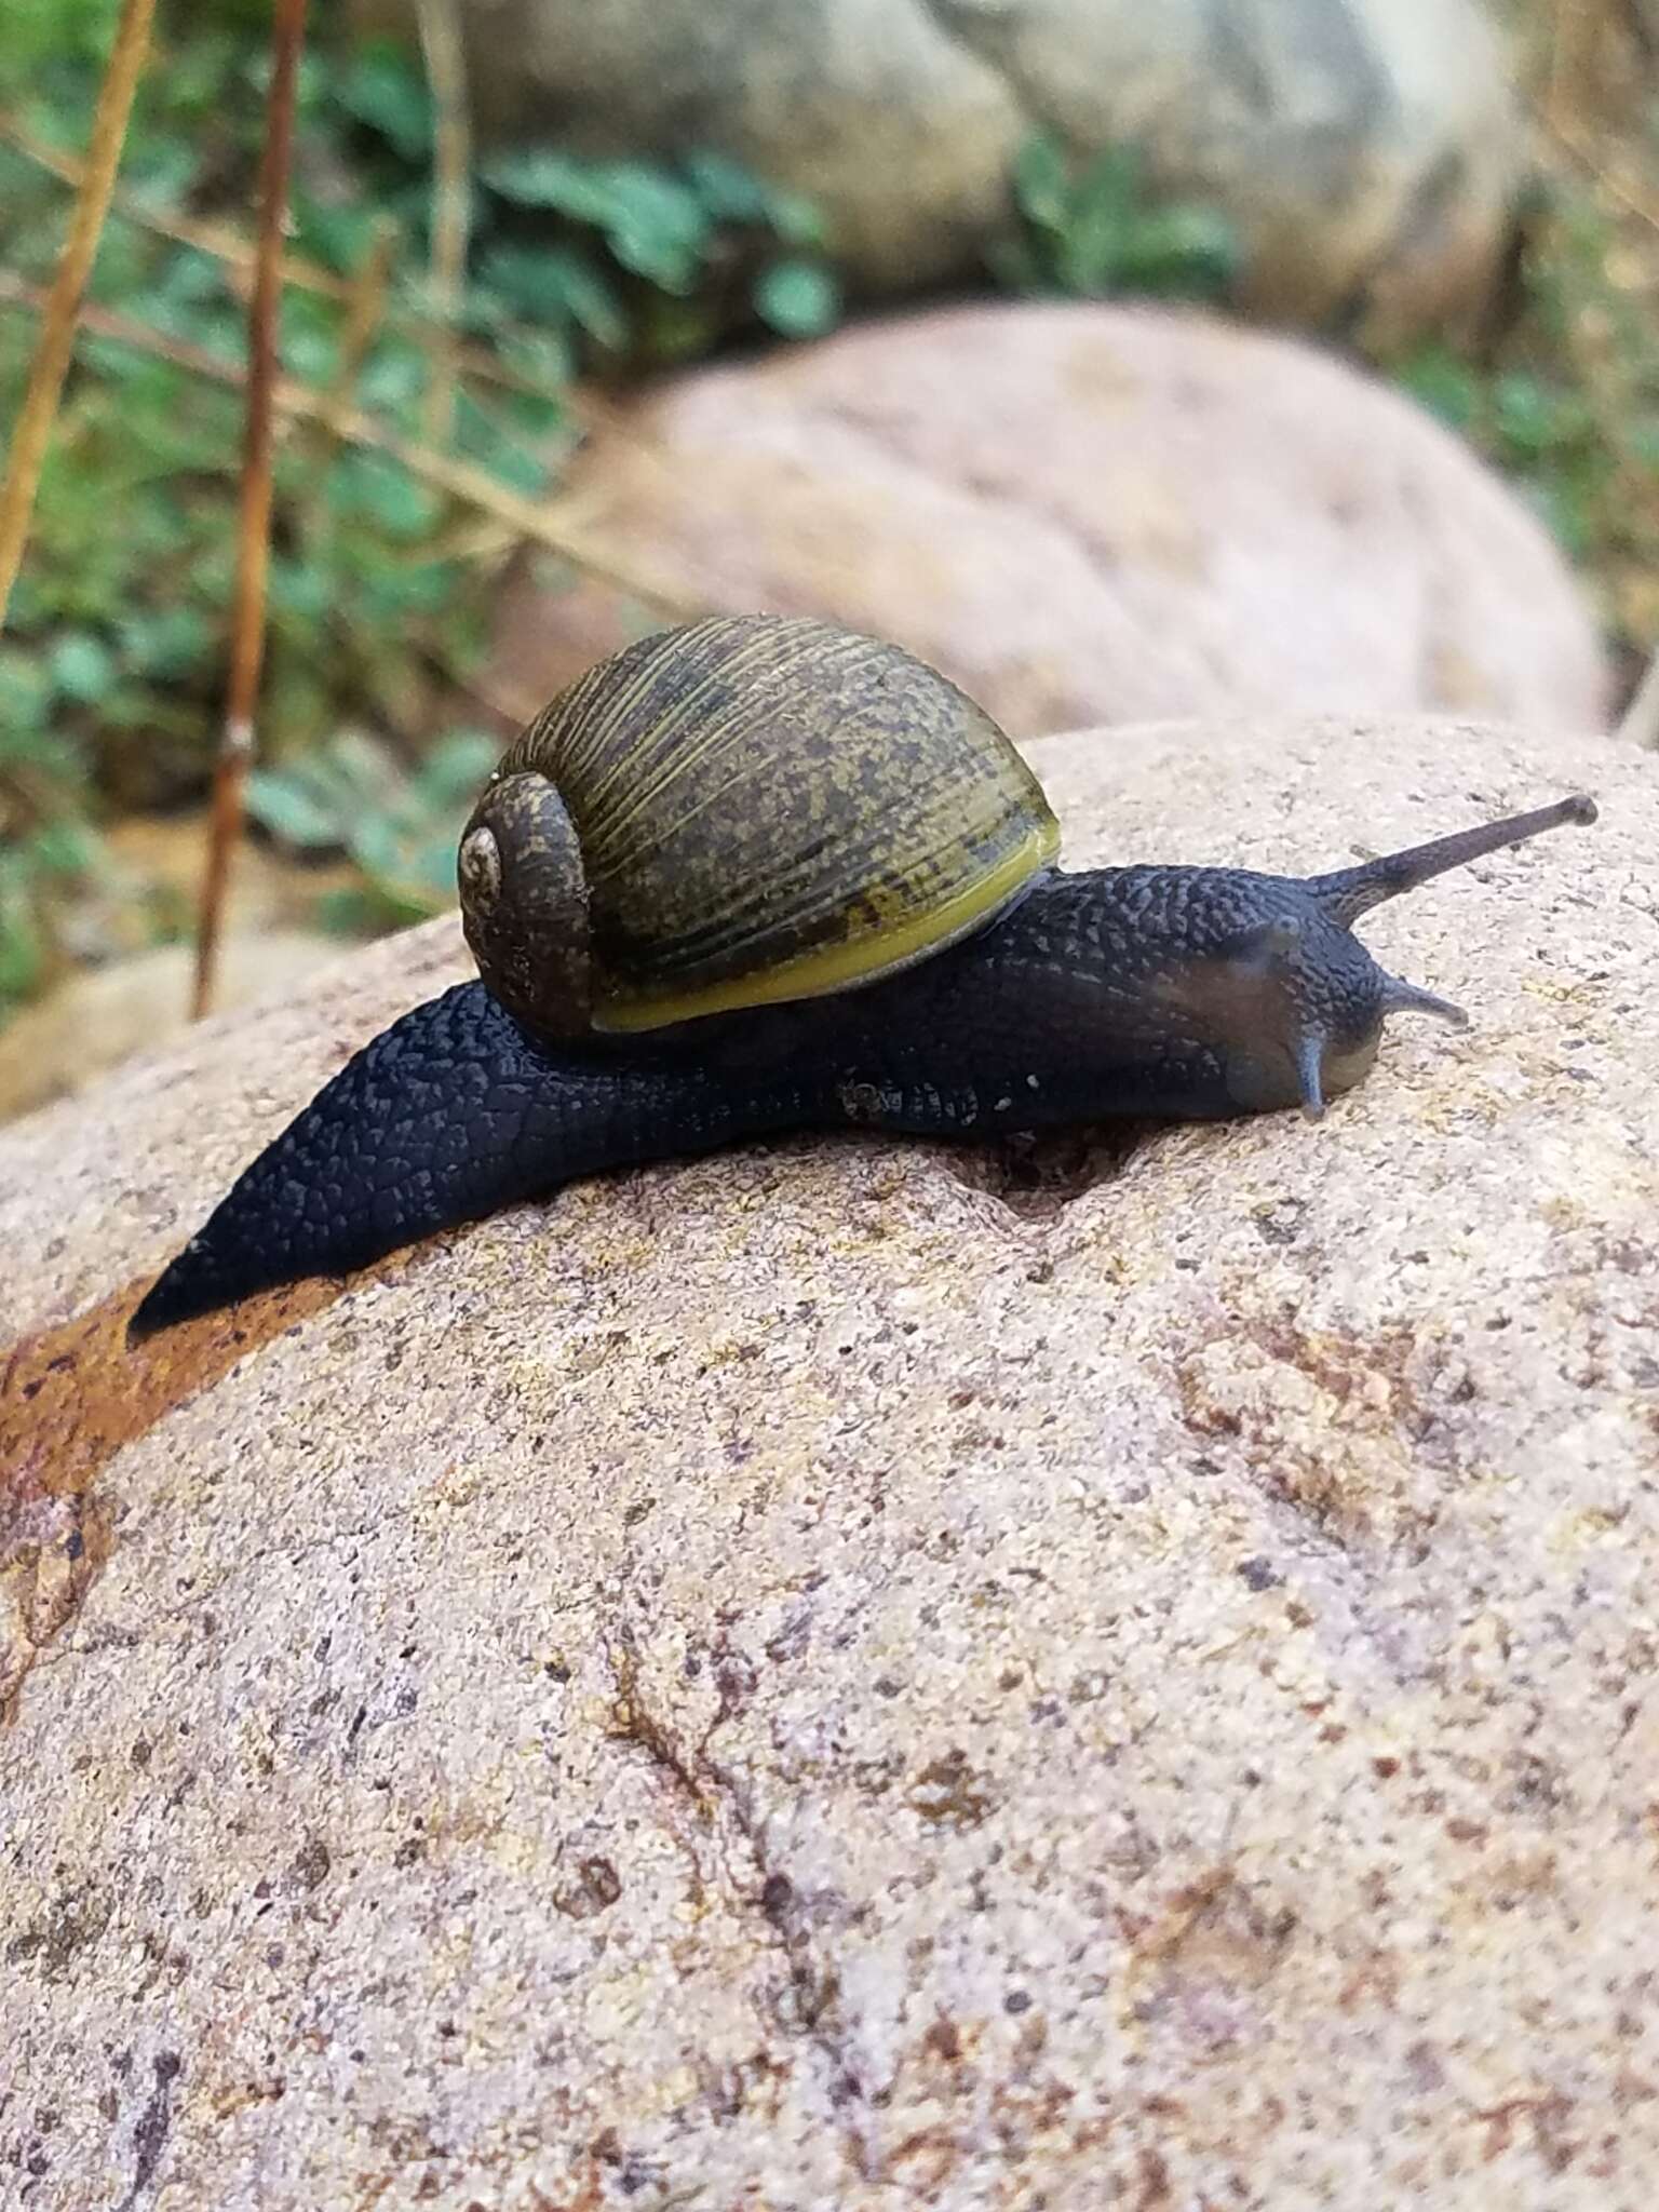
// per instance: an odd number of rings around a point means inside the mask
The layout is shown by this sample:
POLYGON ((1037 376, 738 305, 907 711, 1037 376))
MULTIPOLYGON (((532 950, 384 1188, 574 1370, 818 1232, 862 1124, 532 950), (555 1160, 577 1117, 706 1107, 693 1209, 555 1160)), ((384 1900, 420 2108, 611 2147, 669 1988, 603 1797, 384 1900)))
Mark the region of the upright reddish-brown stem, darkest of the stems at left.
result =
POLYGON ((248 305, 248 414, 241 458, 241 520, 237 526, 237 595, 230 613, 230 684, 219 759, 212 770, 208 869, 197 925, 197 975, 190 1013, 212 1002, 219 925, 230 880, 230 856, 241 838, 243 785, 254 754, 254 706, 265 657, 265 575, 270 571, 272 392, 276 383, 276 310, 283 292, 283 219, 288 168, 294 150, 294 80, 305 38, 305 0, 276 0, 272 73, 265 100, 265 148, 259 159, 259 261, 248 305))

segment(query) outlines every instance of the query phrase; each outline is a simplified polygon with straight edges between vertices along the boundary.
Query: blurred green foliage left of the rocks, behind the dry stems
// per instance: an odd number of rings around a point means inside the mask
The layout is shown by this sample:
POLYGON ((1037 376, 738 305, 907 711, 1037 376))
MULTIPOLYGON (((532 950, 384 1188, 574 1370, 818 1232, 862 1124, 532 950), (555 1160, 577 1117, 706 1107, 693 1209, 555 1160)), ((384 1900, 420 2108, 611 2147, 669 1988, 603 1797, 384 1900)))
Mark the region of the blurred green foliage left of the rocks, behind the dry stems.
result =
MULTIPOLYGON (((51 281, 71 206, 24 148, 80 155, 113 20, 115 0, 0 7, 0 425, 35 338, 24 288, 51 281)), ((265 38, 257 11, 246 29, 161 35, 139 88, 91 301, 142 325, 144 343, 82 332, 0 648, 0 1018, 53 967, 62 902, 97 854, 91 825, 186 803, 206 783, 234 562, 246 268, 166 228, 219 219, 250 234, 265 38), (204 374, 215 365, 219 378, 204 374)), ((347 49, 314 11, 290 248, 332 290, 288 285, 281 367, 409 445, 445 352, 427 268, 431 148, 418 60, 347 49), (387 243, 385 299, 354 352, 349 290, 358 281, 367 296, 387 243)), ((814 210, 712 155, 482 159, 469 232, 456 321, 484 372, 462 367, 449 453, 520 495, 544 493, 571 449, 577 374, 695 356, 743 325, 807 336, 838 316, 814 210)), ((422 732, 434 688, 482 657, 502 540, 349 436, 303 425, 279 442, 261 695, 276 781, 261 785, 259 818, 279 827, 285 770, 314 757, 327 776, 374 748, 372 799, 354 787, 361 823, 352 792, 332 787, 332 841, 358 856, 365 887, 361 911, 336 907, 334 920, 403 920, 449 898, 449 863, 440 878, 420 825, 442 814, 447 763, 476 759, 478 741, 445 739, 422 763, 422 732), (365 734, 330 745, 338 730, 365 734)), ((321 790, 316 805, 327 812, 321 790)))

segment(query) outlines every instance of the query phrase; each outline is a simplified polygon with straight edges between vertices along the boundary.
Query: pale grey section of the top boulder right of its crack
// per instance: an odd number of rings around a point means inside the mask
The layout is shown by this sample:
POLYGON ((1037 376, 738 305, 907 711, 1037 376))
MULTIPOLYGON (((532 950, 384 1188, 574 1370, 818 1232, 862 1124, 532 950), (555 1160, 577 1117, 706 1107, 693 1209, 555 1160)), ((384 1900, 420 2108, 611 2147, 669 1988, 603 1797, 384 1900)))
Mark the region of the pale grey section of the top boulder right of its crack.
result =
POLYGON ((1524 133, 1480 0, 931 0, 1073 146, 1223 208, 1241 303, 1371 343, 1473 330, 1524 133))

